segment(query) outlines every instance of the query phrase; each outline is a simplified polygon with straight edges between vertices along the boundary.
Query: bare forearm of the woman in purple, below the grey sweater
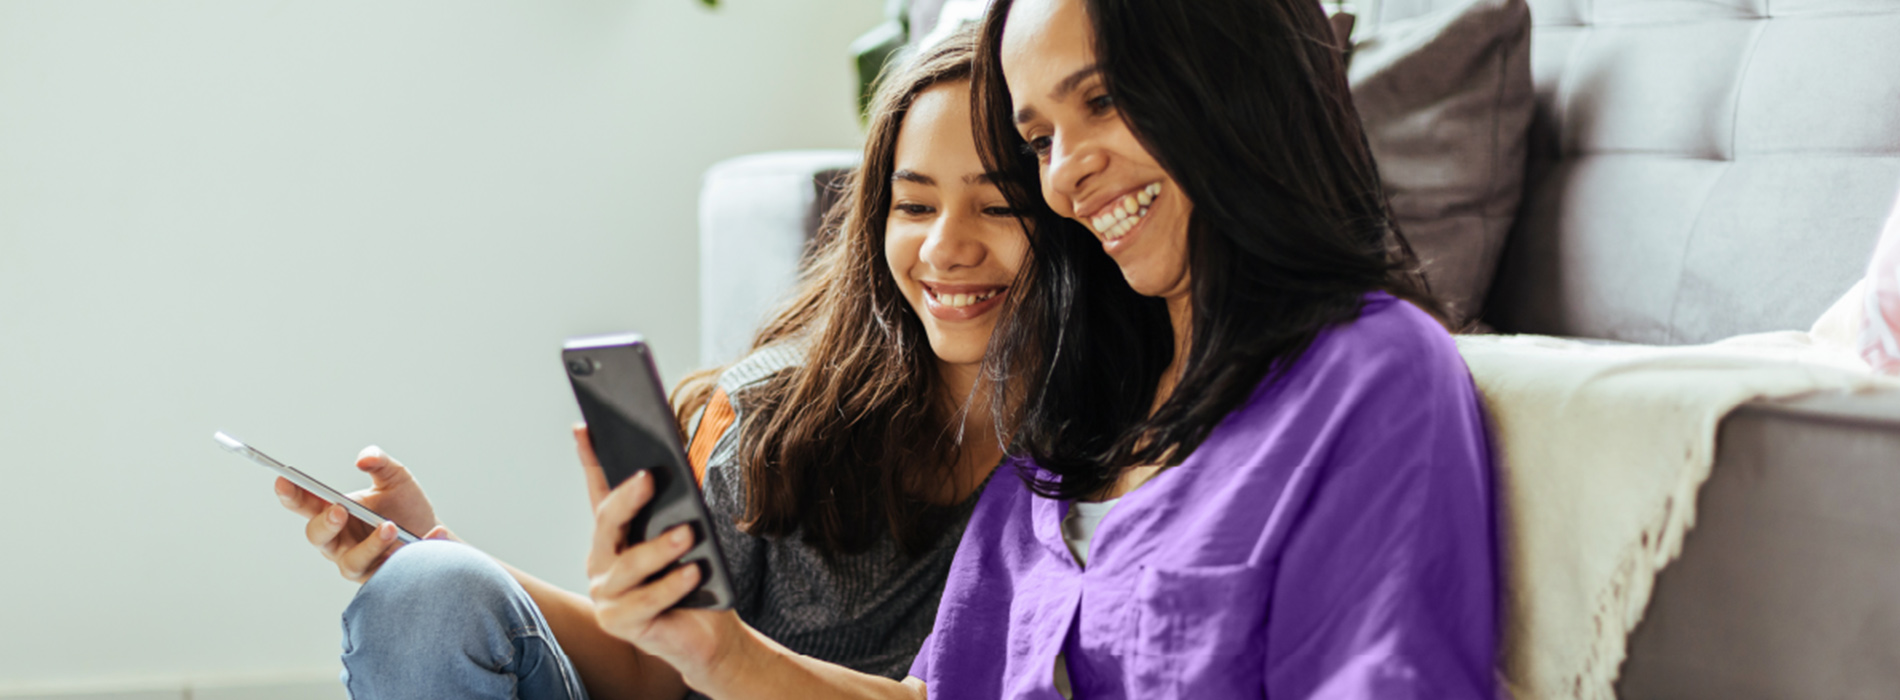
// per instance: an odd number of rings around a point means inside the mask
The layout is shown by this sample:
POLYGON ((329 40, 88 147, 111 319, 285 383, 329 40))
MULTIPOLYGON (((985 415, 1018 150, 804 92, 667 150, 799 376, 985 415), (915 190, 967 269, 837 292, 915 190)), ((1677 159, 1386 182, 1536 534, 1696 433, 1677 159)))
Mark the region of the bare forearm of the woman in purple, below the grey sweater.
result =
POLYGON ((771 637, 745 628, 747 639, 722 658, 694 689, 718 700, 750 698, 846 698, 846 700, 925 700, 923 683, 891 681, 859 673, 785 649, 771 637))

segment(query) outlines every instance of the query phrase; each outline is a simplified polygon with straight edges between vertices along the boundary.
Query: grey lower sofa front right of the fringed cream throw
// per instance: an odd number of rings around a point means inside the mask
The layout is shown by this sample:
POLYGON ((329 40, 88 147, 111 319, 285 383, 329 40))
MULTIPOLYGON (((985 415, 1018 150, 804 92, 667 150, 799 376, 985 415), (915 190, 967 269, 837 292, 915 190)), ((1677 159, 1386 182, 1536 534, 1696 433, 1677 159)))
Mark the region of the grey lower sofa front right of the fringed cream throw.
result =
POLYGON ((1619 696, 1877 698, 1900 689, 1900 392, 1731 413, 1619 696))

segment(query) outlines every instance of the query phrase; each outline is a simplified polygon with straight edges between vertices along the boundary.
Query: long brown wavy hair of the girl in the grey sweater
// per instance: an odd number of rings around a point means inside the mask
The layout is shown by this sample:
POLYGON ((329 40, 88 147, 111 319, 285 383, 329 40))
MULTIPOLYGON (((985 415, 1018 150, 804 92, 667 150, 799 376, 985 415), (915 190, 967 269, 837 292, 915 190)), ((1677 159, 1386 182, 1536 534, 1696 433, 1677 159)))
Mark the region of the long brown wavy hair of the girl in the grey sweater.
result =
MULTIPOLYGON (((804 363, 733 399, 743 403, 737 462, 752 535, 804 540, 826 555, 868 550, 889 533, 902 554, 927 550, 952 506, 933 502, 956 476, 963 396, 946 396, 923 321, 884 259, 897 135, 923 91, 969 80, 975 30, 950 36, 885 76, 870 110, 864 162, 844 181, 790 302, 752 348, 804 346, 804 363)), ((673 392, 684 418, 722 369, 673 392)))

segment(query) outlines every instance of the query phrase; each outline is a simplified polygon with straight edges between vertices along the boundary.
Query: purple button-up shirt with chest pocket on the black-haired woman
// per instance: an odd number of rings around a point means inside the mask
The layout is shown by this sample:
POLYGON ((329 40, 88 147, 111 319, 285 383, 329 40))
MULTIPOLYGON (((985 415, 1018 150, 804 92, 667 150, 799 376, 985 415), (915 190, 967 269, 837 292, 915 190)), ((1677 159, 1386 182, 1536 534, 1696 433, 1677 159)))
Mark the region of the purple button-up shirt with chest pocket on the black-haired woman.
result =
MULTIPOLYGON (((1005 464, 1034 468, 1034 464, 1005 464)), ((998 474, 910 673, 931 700, 1495 698, 1492 455, 1452 337, 1376 293, 1102 519, 998 474)))

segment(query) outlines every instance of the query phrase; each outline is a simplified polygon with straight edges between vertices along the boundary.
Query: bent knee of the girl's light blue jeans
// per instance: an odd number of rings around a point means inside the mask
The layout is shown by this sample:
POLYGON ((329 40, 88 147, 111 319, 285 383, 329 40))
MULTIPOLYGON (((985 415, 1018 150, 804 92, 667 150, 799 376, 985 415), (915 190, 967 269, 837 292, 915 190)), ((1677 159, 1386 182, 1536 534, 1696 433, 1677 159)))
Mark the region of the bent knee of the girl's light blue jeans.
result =
POLYGON ((408 544, 344 609, 352 700, 585 700, 528 592, 471 546, 408 544))

